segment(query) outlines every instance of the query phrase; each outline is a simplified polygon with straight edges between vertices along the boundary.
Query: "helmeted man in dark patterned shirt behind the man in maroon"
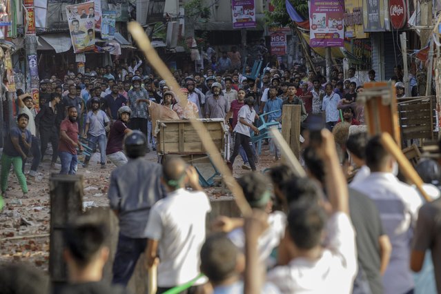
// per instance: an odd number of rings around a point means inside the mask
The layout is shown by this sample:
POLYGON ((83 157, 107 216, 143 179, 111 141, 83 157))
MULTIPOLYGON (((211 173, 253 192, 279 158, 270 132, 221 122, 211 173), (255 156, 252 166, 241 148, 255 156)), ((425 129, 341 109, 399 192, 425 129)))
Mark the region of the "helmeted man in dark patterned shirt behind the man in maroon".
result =
MULTIPOLYGON (((146 101, 148 100, 148 92, 146 89, 141 88, 141 78, 133 77, 132 79, 133 89, 128 91, 128 106, 132 111, 130 114, 130 128, 132 130, 140 130, 147 137, 147 125, 148 125, 148 108, 146 101)), ((147 148, 147 152, 150 149, 147 148)))

